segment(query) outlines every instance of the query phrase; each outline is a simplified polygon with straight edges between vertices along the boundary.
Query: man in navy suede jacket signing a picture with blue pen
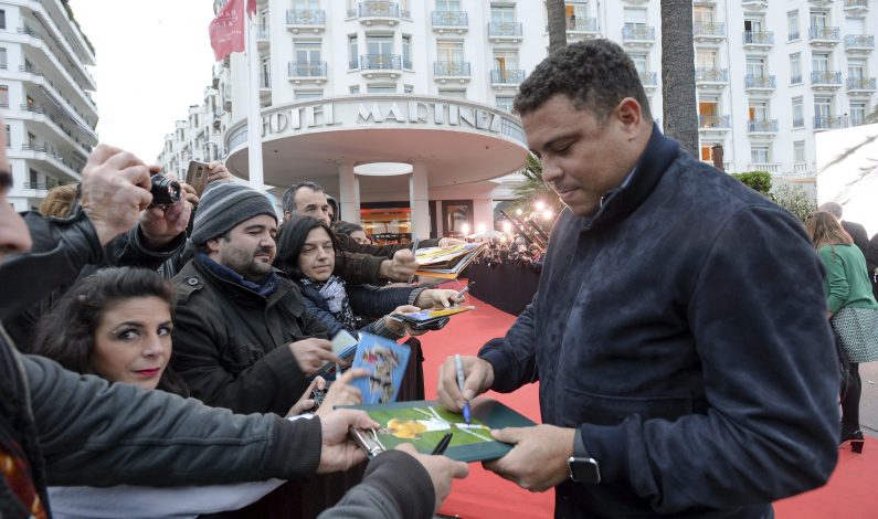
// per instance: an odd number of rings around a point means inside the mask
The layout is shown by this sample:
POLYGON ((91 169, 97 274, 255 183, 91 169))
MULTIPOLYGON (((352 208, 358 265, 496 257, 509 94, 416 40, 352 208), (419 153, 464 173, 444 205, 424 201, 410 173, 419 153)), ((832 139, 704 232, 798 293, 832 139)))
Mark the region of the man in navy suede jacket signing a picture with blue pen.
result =
POLYGON ((606 40, 551 54, 515 102, 568 205, 505 338, 442 403, 540 382, 542 425, 487 464, 558 517, 771 517, 837 459, 838 375, 802 224, 664 137, 606 40))

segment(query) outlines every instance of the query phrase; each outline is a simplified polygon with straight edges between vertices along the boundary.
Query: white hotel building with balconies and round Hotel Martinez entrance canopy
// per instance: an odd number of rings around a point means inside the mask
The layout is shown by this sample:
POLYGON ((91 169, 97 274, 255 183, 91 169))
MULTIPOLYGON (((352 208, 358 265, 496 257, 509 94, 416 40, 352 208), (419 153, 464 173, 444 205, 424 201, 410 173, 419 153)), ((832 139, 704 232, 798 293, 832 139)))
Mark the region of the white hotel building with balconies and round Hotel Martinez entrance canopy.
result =
MULTIPOLYGON (((567 15, 569 41, 609 38, 626 49, 660 125, 659 3, 571 0, 567 15)), ((543 2, 262 0, 258 9, 264 174, 275 193, 317 180, 340 197, 345 220, 372 232, 388 222, 384 231, 419 235, 491 223, 491 201, 508 194, 500 178, 526 157, 508 110, 546 56, 543 2), (409 166, 391 177, 355 170, 388 161, 409 166)), ((719 144, 727 171, 813 179, 814 134, 860 125, 872 107, 877 11, 875 0, 696 0, 700 158, 719 144)), ((228 128, 213 149, 246 177, 247 61, 233 54, 226 64, 214 68, 220 115, 205 109, 201 127, 228 128)), ((199 155, 187 135, 168 141, 177 169, 199 155)))

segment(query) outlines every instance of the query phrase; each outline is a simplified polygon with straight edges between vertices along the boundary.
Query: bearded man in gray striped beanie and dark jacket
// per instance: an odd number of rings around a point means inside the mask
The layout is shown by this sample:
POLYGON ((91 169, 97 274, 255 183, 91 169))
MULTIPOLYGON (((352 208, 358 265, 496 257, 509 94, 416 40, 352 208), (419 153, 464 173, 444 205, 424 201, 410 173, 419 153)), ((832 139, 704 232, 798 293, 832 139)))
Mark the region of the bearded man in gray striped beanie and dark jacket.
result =
POLYGON ((306 375, 336 362, 326 328, 275 273, 277 219, 268 199, 222 182, 201 198, 195 257, 174 276, 174 369, 192 396, 236 413, 285 415, 306 375))

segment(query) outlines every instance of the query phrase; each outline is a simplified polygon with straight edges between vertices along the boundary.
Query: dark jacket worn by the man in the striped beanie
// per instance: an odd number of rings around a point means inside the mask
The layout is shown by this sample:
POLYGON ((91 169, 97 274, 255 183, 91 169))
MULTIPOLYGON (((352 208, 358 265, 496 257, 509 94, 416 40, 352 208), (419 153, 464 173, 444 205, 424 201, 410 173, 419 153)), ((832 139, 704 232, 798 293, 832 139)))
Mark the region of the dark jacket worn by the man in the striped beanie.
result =
POLYGON ((171 363, 192 396, 236 413, 285 415, 308 386, 287 345, 328 338, 296 285, 278 277, 265 297, 220 278, 200 256, 173 282, 171 363))

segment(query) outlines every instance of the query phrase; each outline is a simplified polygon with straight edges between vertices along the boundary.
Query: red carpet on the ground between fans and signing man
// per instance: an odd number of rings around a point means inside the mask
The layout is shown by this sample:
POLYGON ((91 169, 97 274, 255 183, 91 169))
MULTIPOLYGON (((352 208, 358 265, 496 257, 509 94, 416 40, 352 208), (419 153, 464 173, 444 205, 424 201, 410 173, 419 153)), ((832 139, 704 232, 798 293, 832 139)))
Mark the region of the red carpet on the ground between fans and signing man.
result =
MULTIPOLYGON (((464 285, 452 283, 448 288, 464 285)), ((455 316, 441 331, 421 336, 424 349, 426 398, 436 398, 438 366, 448 356, 475 354, 495 337, 503 337, 515 317, 473 297, 468 303, 475 311, 455 316)), ((490 393, 535 422, 540 421, 538 385, 531 384, 511 394, 490 393)), ((876 500, 878 481, 878 438, 867 438, 861 455, 843 451, 829 483, 816 490, 783 499, 775 504, 777 519, 878 519, 876 500)), ((531 494, 482 468, 469 464, 469 477, 456 480, 452 495, 440 510, 461 518, 550 518, 554 492, 531 494)))

